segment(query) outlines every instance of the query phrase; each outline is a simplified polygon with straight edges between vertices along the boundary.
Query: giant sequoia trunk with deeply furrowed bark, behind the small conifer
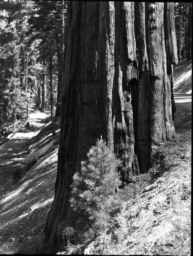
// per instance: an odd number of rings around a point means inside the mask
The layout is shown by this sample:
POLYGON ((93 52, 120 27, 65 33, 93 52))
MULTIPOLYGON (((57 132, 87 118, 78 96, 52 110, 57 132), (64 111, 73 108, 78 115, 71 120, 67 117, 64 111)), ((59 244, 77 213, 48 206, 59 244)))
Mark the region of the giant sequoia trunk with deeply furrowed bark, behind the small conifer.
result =
MULTIPOLYGON (((173 3, 68 2, 61 138, 44 252, 63 250, 70 184, 101 134, 123 160, 123 181, 147 172, 175 136, 173 3)), ((64 241, 65 242, 65 241, 64 241)))

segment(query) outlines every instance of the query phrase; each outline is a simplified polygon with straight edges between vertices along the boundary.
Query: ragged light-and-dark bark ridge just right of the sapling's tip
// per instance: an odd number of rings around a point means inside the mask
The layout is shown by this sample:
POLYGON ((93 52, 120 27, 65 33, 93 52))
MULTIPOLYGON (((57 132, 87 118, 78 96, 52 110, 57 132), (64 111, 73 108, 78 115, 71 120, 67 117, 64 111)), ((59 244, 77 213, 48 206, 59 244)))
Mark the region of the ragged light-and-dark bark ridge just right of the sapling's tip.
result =
POLYGON ((134 3, 115 2, 114 151, 123 160, 124 181, 138 174, 132 108, 132 97, 137 97, 131 82, 137 79, 134 35, 134 3))

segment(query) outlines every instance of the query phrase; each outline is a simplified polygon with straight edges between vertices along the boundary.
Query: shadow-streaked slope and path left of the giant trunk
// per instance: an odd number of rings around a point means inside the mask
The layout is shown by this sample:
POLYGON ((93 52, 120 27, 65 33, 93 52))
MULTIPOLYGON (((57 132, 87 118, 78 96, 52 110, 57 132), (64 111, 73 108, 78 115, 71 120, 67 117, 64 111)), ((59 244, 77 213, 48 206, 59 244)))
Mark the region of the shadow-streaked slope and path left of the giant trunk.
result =
MULTIPOLYGON (((58 145, 31 167, 24 166, 24 173, 21 171, 23 159, 36 149, 35 146, 41 146, 36 143, 29 150, 28 141, 39 133, 46 117, 40 112, 31 114, 30 132, 26 129, 16 133, 0 147, 0 254, 36 253, 43 239, 47 214, 54 199, 58 145)), ((49 136, 41 138, 44 143, 49 136)))

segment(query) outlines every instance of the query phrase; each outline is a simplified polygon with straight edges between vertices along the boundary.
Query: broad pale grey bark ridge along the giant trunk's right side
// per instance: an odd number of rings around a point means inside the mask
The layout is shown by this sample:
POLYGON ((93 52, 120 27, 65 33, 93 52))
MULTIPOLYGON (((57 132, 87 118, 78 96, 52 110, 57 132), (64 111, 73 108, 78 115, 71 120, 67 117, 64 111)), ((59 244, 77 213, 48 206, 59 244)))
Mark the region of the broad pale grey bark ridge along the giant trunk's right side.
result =
MULTIPOLYGON (((150 73, 150 131, 151 155, 154 148, 174 136, 173 121, 167 114, 168 98, 166 48, 163 31, 163 3, 146 3, 147 50, 150 73), (166 79, 166 80, 165 80, 166 79), (166 112, 167 111, 167 112, 166 112), (171 132, 171 129, 173 130, 171 132), (170 136, 169 133, 170 132, 170 136)), ((170 94, 169 94, 170 95, 170 94)))

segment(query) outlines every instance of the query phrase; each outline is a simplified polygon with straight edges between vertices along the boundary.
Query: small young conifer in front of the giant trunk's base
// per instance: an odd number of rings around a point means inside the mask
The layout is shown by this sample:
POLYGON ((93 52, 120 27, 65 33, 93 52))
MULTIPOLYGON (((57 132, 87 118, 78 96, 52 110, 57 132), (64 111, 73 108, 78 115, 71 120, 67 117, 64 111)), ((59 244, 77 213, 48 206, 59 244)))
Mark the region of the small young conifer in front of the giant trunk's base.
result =
POLYGON ((79 216, 86 217, 87 227, 97 236, 119 208, 116 191, 121 181, 117 168, 122 162, 102 137, 90 148, 87 158, 81 162, 81 172, 73 177, 70 205, 79 216))

